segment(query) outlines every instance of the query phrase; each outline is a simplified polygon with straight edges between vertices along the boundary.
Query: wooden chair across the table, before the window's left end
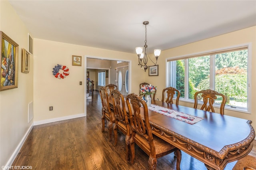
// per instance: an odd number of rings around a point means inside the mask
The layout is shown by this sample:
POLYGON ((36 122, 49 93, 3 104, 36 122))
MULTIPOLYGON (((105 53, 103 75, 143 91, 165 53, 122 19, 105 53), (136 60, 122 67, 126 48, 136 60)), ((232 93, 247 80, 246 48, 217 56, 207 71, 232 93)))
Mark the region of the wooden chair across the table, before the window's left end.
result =
POLYGON ((167 103, 171 103, 171 104, 174 104, 173 103, 173 97, 174 95, 176 94, 176 105, 179 104, 179 99, 180 99, 180 91, 174 87, 167 87, 165 89, 163 89, 163 92, 162 92, 162 101, 164 101, 164 98, 165 98, 165 94, 167 93, 167 99, 165 102, 167 103))

